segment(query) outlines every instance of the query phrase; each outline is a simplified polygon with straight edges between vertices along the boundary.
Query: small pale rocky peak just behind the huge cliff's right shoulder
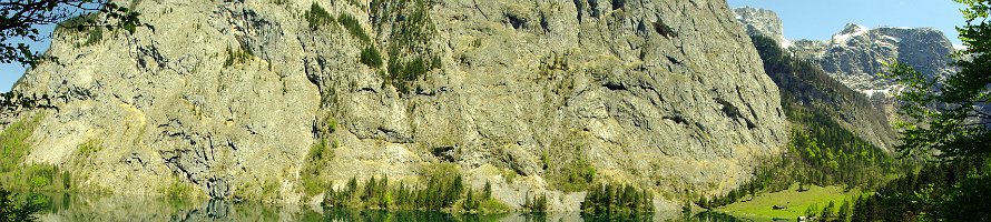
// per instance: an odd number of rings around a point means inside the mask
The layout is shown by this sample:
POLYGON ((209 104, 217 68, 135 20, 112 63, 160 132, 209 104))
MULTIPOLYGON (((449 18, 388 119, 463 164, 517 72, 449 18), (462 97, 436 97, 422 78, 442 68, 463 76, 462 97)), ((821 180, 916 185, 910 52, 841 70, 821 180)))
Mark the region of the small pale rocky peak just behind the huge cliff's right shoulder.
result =
POLYGON ((774 39, 785 49, 792 46, 792 41, 785 38, 781 18, 774 11, 744 7, 733 9, 733 12, 736 13, 736 21, 743 23, 747 29, 747 34, 759 34, 774 39))

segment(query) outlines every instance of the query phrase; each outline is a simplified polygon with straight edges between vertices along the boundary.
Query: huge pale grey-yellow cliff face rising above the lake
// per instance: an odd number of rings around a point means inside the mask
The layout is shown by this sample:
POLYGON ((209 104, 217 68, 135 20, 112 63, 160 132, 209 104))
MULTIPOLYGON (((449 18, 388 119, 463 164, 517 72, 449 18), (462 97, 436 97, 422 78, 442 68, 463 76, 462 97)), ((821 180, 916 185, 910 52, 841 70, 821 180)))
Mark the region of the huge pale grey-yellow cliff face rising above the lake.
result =
POLYGON ((307 176, 450 162, 510 205, 575 210, 570 163, 673 201, 735 188, 788 135, 725 1, 133 2, 156 32, 58 30, 60 63, 14 88, 61 98, 27 161, 88 190, 310 202, 307 176))

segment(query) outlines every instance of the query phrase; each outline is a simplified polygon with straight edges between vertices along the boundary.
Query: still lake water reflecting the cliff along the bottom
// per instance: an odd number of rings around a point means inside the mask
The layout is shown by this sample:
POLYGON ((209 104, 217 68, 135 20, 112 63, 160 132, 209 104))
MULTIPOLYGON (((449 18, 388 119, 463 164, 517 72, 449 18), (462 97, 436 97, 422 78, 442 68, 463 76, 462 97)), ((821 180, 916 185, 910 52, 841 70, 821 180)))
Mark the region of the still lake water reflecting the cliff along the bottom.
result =
POLYGON ((318 206, 268 205, 230 203, 210 200, 202 202, 163 200, 146 196, 85 195, 69 193, 35 193, 45 211, 42 221, 742 221, 733 216, 704 212, 653 214, 583 215, 580 213, 549 214, 452 214, 436 211, 383 211, 356 209, 321 209, 318 206))

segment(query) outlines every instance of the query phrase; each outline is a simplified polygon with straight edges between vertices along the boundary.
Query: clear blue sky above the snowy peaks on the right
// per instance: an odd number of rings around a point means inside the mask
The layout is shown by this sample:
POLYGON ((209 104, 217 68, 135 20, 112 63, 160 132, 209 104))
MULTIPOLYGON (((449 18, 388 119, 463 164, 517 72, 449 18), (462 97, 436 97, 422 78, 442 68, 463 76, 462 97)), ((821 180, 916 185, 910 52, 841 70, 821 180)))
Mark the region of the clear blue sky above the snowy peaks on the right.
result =
POLYGON ((727 0, 729 7, 749 6, 777 12, 789 40, 828 40, 846 23, 870 28, 932 27, 960 44, 954 27, 965 21, 963 4, 951 0, 727 0))

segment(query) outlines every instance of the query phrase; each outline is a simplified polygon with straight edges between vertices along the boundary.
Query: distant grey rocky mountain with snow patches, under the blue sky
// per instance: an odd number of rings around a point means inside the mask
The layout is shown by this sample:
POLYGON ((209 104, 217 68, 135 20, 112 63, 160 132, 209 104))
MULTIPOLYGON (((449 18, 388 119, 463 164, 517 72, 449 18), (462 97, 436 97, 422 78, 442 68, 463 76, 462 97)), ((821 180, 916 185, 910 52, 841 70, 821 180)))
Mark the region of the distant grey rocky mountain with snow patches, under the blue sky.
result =
POLYGON ((796 44, 793 49, 801 51, 799 56, 817 60, 823 70, 851 89, 885 97, 897 91, 899 85, 877 75, 883 72, 883 62, 897 60, 926 75, 944 77, 953 72, 949 63, 950 54, 955 52, 950 40, 936 29, 869 29, 858 24, 846 24, 828 43, 796 44))

